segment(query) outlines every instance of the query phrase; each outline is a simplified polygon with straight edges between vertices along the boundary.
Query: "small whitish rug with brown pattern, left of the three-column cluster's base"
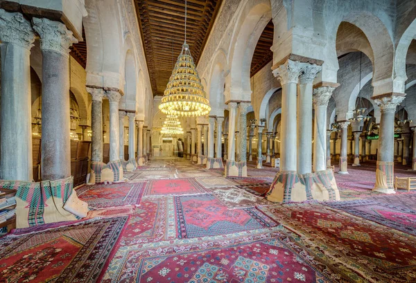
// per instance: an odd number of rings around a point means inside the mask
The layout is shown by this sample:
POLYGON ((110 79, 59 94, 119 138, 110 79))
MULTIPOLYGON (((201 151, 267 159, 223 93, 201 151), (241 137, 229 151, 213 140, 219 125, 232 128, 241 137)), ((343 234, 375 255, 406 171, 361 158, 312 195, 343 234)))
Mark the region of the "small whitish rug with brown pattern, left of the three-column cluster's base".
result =
POLYGON ((212 190, 216 196, 227 208, 252 208, 254 206, 270 206, 274 203, 264 197, 257 197, 250 192, 239 188, 216 188, 212 190))

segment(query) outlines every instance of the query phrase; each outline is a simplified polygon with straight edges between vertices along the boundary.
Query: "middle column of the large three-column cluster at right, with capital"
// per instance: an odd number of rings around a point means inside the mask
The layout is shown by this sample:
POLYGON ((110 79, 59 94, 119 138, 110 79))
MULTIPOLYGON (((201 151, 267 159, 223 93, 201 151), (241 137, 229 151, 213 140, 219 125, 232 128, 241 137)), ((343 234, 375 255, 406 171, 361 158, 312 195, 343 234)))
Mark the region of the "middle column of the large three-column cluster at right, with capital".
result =
MULTIPOLYGON (((306 64, 306 66, 302 68, 302 74, 299 77, 299 82, 300 82, 299 93, 297 94, 298 95, 297 97, 297 173, 299 174, 306 174, 306 173, 312 172, 311 121, 312 121, 313 80, 315 80, 316 75, 321 71, 321 69, 322 67, 317 66, 316 64, 306 64)), ((322 105, 322 109, 323 108, 324 108, 325 120, 324 121, 318 120, 318 122, 320 123, 324 122, 323 126, 326 131, 327 104, 322 105)), ((316 122, 317 122, 316 116, 317 116, 317 113, 315 110, 315 129, 316 129, 316 122)), ((320 113, 320 116, 322 116, 322 113, 320 113)), ((321 134, 319 130, 323 127, 322 125, 318 127, 320 127, 318 129, 318 134, 321 134)), ((325 142, 322 145, 325 145, 325 142)), ((316 146, 316 142, 315 142, 315 146, 316 146)), ((319 154, 322 154, 322 152, 319 152, 319 154)), ((316 154, 314 152, 314 158, 315 156, 316 154)), ((319 157, 320 157, 319 159, 322 158, 321 156, 319 157)), ((318 167, 320 170, 326 169, 326 168, 322 169, 322 167, 320 166, 318 167)))

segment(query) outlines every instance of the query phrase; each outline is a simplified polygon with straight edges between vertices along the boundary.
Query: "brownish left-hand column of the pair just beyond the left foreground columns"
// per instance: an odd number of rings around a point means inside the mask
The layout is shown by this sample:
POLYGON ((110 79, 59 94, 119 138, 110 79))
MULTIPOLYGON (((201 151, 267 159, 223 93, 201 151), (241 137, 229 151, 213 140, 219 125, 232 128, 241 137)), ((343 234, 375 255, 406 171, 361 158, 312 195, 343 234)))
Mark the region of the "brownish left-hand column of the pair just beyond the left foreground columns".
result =
POLYGON ((87 87, 91 94, 91 161, 103 162, 103 89, 87 87))

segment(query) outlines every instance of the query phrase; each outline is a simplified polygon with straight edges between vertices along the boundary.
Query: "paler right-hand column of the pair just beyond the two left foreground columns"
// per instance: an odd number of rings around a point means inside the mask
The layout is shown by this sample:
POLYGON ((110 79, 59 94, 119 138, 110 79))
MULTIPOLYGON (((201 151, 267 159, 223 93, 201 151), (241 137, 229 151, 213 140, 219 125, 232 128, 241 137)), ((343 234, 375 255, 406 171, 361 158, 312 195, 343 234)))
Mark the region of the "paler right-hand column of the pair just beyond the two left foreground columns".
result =
POLYGON ((120 151, 119 140, 119 101, 121 95, 119 91, 105 92, 110 102, 110 161, 118 161, 120 151))

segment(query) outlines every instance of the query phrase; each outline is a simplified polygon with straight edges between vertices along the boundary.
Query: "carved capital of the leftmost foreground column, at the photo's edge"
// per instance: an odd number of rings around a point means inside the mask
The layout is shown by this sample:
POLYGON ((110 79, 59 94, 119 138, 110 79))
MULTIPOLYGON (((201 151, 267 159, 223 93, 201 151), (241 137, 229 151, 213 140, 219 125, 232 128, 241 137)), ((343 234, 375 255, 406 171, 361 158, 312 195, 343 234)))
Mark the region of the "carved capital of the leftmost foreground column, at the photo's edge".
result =
POLYGON ((30 50, 35 41, 31 22, 19 12, 6 12, 0 9, 0 41, 17 44, 30 50))

